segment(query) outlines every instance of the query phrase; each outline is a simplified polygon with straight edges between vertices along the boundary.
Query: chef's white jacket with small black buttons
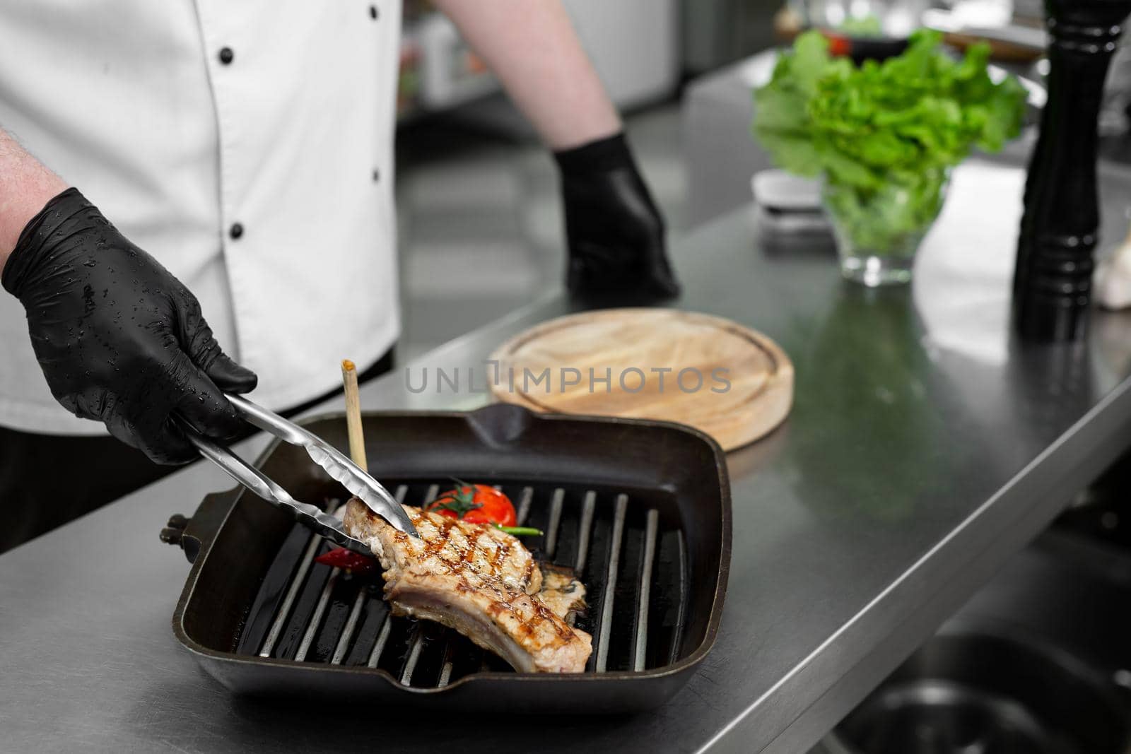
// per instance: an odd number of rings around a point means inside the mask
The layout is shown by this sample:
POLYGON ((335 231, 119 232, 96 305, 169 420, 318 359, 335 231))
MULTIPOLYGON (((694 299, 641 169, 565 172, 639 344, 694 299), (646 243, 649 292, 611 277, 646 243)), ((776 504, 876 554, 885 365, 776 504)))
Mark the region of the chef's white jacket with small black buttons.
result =
MULTIPOLYGON (((399 331, 399 0, 0 0, 0 127, 200 300, 275 408, 399 331)), ((0 291, 0 425, 102 434, 51 397, 0 291)))

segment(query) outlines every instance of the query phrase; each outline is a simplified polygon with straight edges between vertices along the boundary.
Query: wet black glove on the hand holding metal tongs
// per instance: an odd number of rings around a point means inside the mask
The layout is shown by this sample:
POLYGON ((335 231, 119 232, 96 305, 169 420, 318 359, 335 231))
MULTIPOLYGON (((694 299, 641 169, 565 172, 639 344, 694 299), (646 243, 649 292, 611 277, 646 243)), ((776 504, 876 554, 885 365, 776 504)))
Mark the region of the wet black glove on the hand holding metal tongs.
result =
POLYGON ((216 440, 245 425, 222 390, 256 375, 224 355, 200 304, 68 189, 32 218, 3 268, 51 393, 158 463, 197 458, 172 417, 216 440))

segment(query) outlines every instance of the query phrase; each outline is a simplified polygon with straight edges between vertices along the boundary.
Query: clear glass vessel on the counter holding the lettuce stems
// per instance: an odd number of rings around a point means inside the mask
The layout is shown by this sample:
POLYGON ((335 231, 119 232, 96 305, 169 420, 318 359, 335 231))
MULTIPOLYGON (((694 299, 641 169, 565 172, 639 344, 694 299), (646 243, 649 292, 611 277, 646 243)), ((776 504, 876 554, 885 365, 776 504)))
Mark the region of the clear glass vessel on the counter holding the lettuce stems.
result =
POLYGON ((912 279, 915 252, 942 209, 949 171, 924 171, 863 189, 827 180, 824 210, 832 224, 840 272, 874 287, 912 279))

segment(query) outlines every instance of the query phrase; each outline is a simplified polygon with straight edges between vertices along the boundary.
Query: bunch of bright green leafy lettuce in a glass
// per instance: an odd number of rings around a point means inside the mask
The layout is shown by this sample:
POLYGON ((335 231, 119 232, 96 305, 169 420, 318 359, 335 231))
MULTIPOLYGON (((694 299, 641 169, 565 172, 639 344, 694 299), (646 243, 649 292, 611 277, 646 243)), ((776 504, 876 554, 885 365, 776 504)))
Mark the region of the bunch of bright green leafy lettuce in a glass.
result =
POLYGON ((754 92, 754 136, 800 175, 865 192, 914 185, 1020 132, 1025 88, 1013 77, 994 84, 988 58, 978 44, 955 60, 940 34, 921 31, 903 54, 856 67, 808 32, 754 92))

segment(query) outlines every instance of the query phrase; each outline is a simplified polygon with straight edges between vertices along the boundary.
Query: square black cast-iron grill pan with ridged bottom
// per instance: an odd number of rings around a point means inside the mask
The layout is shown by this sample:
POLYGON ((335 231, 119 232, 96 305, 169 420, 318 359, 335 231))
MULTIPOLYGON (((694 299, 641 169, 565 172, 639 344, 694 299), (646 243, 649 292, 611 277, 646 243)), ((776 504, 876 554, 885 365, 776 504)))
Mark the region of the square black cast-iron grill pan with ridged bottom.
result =
MULTIPOLYGON (((535 557, 575 571, 594 651, 585 673, 519 674, 439 624, 390 615, 379 574, 313 563, 329 545, 250 493, 209 495, 181 537, 192 570, 173 630, 238 693, 382 700, 437 709, 623 712, 656 707, 714 643, 731 555, 725 457, 682 425, 476 411, 366 413, 370 468, 420 505, 451 477, 515 502, 535 557)), ((342 415, 303 423, 344 448, 342 415)), ((257 462, 295 497, 346 494, 273 443, 257 462)))

